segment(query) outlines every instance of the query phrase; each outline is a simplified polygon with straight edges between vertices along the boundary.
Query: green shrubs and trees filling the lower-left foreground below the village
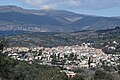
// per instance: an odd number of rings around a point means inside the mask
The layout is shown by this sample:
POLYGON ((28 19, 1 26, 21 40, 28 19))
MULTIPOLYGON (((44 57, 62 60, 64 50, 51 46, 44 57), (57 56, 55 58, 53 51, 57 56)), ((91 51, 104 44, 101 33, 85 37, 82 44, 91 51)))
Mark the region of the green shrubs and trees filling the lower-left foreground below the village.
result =
MULTIPOLYGON (((0 44, 0 50, 5 45, 0 44)), ((42 66, 36 62, 29 64, 7 57, 0 52, 0 78, 2 80, 67 80, 58 67, 42 66)))

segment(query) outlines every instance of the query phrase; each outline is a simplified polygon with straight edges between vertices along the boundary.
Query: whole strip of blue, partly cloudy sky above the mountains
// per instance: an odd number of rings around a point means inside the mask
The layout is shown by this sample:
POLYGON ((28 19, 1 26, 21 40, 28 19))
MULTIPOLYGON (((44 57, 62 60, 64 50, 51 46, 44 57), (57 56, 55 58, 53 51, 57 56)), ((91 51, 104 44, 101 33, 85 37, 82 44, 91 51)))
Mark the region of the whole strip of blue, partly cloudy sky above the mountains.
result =
POLYGON ((0 0, 0 6, 3 5, 36 10, 68 10, 96 16, 120 16, 120 0, 0 0))

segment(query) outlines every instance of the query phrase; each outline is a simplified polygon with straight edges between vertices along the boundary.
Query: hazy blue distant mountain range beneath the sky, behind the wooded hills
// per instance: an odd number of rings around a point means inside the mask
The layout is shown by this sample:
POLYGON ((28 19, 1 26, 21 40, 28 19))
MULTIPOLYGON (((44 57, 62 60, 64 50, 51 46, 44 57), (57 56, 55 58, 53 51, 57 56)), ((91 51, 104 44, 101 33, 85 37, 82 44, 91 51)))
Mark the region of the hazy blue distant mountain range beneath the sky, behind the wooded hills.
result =
POLYGON ((0 30, 30 32, 74 32, 101 30, 120 26, 120 17, 101 17, 65 10, 29 10, 17 6, 0 6, 0 30))

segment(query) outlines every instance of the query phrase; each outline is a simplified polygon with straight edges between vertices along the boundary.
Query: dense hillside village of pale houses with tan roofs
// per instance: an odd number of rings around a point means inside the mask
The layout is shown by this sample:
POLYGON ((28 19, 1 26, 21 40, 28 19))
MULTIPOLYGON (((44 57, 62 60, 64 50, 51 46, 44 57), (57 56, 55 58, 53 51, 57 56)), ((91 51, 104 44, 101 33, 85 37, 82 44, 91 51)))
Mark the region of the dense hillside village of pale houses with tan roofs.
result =
POLYGON ((102 49, 96 49, 90 44, 73 46, 44 47, 10 47, 3 53, 20 61, 38 61, 41 65, 55 65, 67 70, 75 68, 90 68, 102 65, 119 65, 119 55, 105 54, 102 49))

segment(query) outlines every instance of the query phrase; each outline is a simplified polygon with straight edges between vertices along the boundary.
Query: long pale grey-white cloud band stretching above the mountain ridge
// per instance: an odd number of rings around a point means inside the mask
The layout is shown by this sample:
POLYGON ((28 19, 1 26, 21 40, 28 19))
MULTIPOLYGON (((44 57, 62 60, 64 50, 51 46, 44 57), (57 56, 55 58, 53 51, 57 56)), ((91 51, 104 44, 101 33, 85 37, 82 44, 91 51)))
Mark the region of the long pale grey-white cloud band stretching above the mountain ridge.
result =
POLYGON ((22 0, 40 9, 106 9, 120 7, 120 0, 22 0))

